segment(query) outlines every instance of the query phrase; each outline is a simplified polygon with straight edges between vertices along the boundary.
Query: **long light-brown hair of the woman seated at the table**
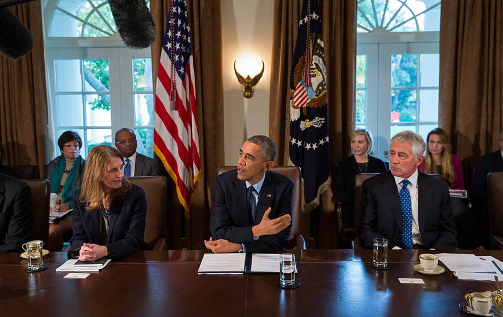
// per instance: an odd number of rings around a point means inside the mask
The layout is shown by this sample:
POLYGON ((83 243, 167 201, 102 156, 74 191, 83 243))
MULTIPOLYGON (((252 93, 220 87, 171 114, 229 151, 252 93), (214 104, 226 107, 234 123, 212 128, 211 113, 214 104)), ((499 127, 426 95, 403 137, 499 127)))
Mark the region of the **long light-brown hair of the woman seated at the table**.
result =
MULTIPOLYGON (((89 151, 80 186, 79 201, 87 202, 86 208, 90 211, 103 207, 101 182, 107 173, 107 164, 112 157, 119 157, 124 162, 124 156, 112 146, 96 145, 89 151)), ((131 183, 123 178, 121 187, 114 190, 112 195, 113 197, 124 197, 130 188, 131 183)))

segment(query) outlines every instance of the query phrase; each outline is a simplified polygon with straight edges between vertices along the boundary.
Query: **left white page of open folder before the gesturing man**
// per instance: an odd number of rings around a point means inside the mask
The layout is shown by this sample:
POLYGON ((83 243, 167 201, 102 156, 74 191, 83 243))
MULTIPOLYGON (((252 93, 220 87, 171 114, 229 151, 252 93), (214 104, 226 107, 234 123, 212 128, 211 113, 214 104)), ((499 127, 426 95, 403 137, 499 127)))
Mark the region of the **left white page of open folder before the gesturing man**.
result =
POLYGON ((243 274, 245 253, 205 253, 197 274, 243 274))

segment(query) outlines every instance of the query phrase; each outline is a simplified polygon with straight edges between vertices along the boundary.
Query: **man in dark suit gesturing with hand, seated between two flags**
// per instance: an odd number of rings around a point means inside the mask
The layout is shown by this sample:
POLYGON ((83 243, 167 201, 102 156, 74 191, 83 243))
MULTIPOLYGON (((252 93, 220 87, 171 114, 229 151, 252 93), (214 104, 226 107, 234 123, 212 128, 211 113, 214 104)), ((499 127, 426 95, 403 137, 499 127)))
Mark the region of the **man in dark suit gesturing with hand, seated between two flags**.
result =
POLYGON ((237 170, 213 181, 211 237, 214 253, 272 252, 285 249, 291 228, 293 182, 269 171, 276 145, 267 136, 248 138, 237 170))

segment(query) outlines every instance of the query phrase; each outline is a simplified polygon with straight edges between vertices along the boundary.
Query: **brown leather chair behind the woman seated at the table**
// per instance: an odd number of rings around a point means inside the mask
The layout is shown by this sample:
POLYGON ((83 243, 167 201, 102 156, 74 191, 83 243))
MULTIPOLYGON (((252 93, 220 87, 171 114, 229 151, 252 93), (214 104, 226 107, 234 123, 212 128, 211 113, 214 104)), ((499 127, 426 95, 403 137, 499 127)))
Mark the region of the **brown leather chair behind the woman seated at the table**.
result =
POLYGON ((166 178, 164 176, 128 177, 131 184, 135 184, 145 191, 147 199, 147 217, 143 240, 148 250, 164 250, 166 237, 166 178))

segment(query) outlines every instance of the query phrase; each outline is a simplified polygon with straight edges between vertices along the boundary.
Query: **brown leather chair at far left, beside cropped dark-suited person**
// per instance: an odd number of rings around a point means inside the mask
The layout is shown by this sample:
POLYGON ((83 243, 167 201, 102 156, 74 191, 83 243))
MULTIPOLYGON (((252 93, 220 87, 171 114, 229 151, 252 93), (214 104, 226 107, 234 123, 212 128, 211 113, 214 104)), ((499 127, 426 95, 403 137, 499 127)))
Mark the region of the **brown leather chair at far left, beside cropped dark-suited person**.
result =
POLYGON ((51 183, 48 180, 23 180, 32 192, 32 240, 42 240, 44 245, 49 241, 49 201, 51 183))

